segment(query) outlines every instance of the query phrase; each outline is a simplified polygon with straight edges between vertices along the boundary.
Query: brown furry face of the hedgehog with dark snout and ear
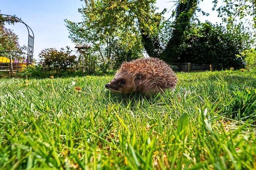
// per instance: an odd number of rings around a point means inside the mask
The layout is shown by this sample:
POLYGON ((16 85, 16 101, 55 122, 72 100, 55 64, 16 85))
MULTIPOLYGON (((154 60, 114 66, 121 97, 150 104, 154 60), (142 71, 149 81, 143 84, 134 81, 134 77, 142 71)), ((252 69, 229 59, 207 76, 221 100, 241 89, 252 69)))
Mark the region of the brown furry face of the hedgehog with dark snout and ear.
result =
POLYGON ((125 94, 136 91, 136 83, 141 80, 142 75, 140 73, 128 74, 126 72, 117 72, 114 79, 106 84, 106 88, 125 94))

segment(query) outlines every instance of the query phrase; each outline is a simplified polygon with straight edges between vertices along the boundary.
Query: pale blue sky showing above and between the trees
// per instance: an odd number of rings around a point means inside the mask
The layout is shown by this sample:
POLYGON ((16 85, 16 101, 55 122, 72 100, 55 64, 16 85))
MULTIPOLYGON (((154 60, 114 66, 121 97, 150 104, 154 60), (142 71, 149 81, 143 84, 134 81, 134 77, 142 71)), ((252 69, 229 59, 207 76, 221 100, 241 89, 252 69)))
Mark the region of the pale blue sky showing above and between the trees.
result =
MULTIPOLYGON (((200 8, 210 13, 210 16, 199 16, 201 21, 209 20, 212 23, 220 22, 216 12, 212 12, 212 0, 204 0, 200 8)), ((78 8, 82 7, 80 0, 0 0, 2 14, 16 15, 27 23, 34 31, 34 58, 45 48, 66 47, 74 48, 74 44, 68 39, 68 31, 64 20, 74 22, 81 21, 78 8)), ((157 0, 159 11, 172 6, 170 0, 157 0)), ((166 17, 170 14, 166 14, 166 17)), ((21 23, 7 25, 14 30, 20 38, 20 44, 27 45, 28 33, 26 27, 21 23)))

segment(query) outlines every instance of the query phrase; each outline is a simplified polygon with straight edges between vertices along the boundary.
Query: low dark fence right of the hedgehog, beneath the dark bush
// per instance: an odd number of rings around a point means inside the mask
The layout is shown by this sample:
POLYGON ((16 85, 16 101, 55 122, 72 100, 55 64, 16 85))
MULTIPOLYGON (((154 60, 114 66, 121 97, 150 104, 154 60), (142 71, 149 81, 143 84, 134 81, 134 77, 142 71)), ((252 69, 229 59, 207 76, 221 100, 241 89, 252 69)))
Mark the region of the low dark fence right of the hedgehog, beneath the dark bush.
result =
POLYGON ((177 72, 214 70, 213 64, 170 63, 170 65, 171 65, 172 69, 177 72))

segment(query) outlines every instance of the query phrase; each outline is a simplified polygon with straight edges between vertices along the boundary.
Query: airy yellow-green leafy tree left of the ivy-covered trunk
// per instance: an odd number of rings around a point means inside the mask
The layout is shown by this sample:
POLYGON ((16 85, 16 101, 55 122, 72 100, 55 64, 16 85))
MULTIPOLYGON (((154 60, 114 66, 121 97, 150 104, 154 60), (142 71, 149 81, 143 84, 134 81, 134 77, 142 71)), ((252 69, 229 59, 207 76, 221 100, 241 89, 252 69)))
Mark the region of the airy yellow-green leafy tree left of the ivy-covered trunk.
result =
POLYGON ((124 61, 142 56, 141 38, 134 24, 124 22, 126 19, 121 12, 124 8, 127 7, 122 2, 106 4, 101 0, 85 1, 84 8, 79 9, 83 16, 82 22, 65 20, 70 39, 74 43, 90 45, 95 63, 104 71, 116 67, 114 60, 124 61), (127 31, 122 31, 126 26, 127 31))

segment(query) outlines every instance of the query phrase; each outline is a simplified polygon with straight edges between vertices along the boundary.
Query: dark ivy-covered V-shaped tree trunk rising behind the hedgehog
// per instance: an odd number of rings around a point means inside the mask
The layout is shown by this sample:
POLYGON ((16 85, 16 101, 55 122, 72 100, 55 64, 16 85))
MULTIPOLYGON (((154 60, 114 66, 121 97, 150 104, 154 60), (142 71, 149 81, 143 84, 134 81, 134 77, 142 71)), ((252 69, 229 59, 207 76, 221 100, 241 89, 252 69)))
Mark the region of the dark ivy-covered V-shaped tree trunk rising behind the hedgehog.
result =
MULTIPOLYGON (((184 32, 190 24, 190 20, 197 8, 197 0, 177 0, 176 20, 172 36, 165 49, 162 49, 158 36, 151 37, 144 29, 141 29, 142 43, 144 49, 150 57, 158 57, 171 63, 178 59, 180 54, 180 45, 184 38, 184 32)), ((139 20, 140 22, 140 20, 139 20)))

